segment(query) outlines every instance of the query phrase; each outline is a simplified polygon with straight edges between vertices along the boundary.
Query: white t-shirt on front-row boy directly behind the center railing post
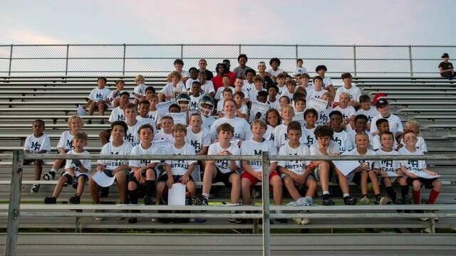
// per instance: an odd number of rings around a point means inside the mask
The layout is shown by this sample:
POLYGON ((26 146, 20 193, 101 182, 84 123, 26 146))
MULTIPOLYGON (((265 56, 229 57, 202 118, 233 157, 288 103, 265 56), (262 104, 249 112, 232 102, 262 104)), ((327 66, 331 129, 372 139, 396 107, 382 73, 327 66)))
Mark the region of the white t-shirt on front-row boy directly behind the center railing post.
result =
MULTIPOLYGON (((277 155, 277 148, 274 146, 274 142, 270 140, 264 139, 263 142, 255 142, 253 139, 250 139, 247 142, 242 142, 241 144, 241 154, 242 155, 255 155, 259 156, 263 151, 267 151, 269 156, 277 155)), ((270 163, 274 163, 276 161, 271 161, 270 163)), ((263 171, 260 161, 247 161, 249 166, 254 171, 263 171)))

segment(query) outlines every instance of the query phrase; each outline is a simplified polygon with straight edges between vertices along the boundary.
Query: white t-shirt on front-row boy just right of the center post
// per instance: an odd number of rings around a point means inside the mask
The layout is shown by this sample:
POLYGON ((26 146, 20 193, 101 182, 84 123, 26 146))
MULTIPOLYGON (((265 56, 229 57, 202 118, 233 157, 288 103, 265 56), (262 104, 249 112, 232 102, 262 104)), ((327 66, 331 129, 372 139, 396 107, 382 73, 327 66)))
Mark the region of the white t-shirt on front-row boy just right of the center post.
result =
MULTIPOLYGON (((279 156, 309 156, 310 154, 309 146, 304 144, 299 144, 299 146, 294 149, 287 143, 279 149, 279 156)), ((289 171, 293 171, 295 174, 304 174, 304 169, 310 162, 311 161, 279 161, 277 164, 289 169, 289 171)))

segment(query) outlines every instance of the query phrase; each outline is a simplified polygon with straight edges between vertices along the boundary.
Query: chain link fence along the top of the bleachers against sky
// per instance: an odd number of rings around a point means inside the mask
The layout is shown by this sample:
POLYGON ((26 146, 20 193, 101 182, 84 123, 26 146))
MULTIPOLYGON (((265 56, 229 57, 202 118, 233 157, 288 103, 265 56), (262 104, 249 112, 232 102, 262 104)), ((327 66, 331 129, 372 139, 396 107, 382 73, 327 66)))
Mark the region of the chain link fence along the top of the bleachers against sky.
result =
POLYGON ((271 58, 293 73, 296 58, 304 60, 308 73, 326 65, 328 75, 349 72, 356 76, 438 76, 442 53, 456 56, 456 46, 317 46, 317 45, 1 45, 0 75, 167 75, 180 58, 184 69, 197 67, 199 58, 207 69, 228 59, 231 69, 237 56, 249 57, 257 70, 259 61, 271 58))

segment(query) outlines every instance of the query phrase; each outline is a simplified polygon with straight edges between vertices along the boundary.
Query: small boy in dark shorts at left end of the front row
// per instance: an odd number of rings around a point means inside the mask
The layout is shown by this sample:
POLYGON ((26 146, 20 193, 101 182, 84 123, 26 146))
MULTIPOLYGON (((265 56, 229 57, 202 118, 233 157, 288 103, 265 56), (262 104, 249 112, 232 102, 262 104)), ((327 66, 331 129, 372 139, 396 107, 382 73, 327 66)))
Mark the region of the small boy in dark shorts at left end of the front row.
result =
MULTIPOLYGON (((84 149, 86 145, 87 134, 85 132, 78 132, 73 137, 74 149, 69 151, 68 154, 88 155, 88 151, 84 149)), ((90 165, 90 159, 67 159, 65 173, 58 179, 52 196, 46 196, 44 198, 44 203, 57 203, 58 195, 61 193, 63 186, 65 184, 71 184, 73 188, 76 188, 76 194, 69 199, 69 202, 79 204, 84 191, 84 184, 90 176, 90 165)))

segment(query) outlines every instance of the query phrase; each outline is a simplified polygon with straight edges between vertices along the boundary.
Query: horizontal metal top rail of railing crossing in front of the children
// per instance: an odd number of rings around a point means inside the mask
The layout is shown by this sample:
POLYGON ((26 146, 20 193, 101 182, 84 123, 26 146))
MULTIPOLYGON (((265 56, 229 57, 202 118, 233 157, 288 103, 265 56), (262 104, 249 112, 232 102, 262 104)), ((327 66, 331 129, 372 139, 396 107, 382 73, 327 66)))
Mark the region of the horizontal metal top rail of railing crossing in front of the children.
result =
MULTIPOLYGON (((190 156, 190 155, 73 155, 73 154, 24 154, 24 159, 123 159, 123 160, 247 160, 247 161, 261 161, 261 156, 254 155, 234 155, 234 156, 190 156)), ((339 156, 269 156, 269 160, 285 160, 285 161, 305 161, 305 160, 456 160, 456 154, 442 154, 442 155, 385 155, 385 156, 355 156, 355 155, 339 155, 339 156)))

